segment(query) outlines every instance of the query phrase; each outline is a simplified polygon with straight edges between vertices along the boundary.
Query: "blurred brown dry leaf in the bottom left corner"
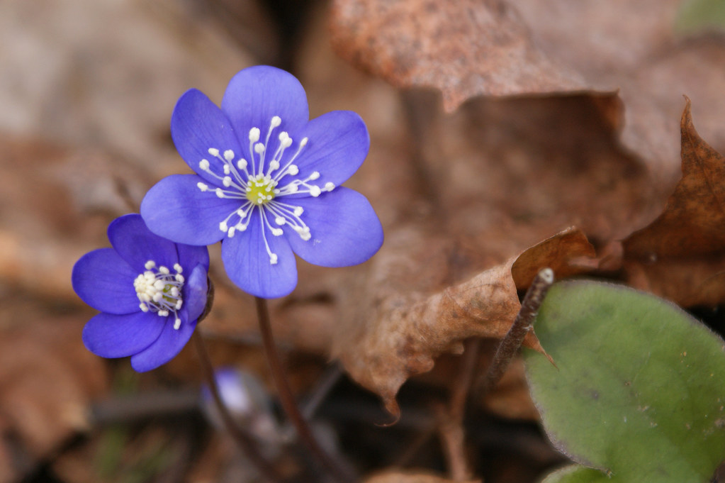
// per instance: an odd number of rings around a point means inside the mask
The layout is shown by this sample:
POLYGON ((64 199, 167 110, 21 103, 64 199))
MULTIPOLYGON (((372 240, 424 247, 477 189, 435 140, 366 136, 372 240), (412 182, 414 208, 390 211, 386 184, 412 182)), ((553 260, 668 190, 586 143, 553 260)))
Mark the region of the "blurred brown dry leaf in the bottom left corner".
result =
MULTIPOLYGON (((0 428, 13 436, 0 444, 0 461, 23 454, 30 463, 88 429, 86 411, 105 391, 106 372, 101 358, 83 347, 78 318, 43 315, 21 299, 4 299, 1 314, 17 326, 0 333, 0 428)), ((12 479, 0 471, 0 482, 17 481, 18 463, 12 458, 4 466, 12 479)))

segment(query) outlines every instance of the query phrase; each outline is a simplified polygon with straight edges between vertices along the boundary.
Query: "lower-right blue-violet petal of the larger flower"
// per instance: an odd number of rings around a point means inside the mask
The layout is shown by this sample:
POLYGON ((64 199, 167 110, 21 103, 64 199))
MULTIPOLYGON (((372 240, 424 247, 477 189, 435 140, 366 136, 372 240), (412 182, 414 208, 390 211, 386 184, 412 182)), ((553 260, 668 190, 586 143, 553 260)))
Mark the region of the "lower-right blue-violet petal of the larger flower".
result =
POLYGON ((294 202, 305 210, 301 218, 312 235, 305 241, 286 231, 289 244, 302 260, 323 267, 357 265, 375 255, 383 244, 378 215, 357 191, 339 187, 318 198, 294 202))

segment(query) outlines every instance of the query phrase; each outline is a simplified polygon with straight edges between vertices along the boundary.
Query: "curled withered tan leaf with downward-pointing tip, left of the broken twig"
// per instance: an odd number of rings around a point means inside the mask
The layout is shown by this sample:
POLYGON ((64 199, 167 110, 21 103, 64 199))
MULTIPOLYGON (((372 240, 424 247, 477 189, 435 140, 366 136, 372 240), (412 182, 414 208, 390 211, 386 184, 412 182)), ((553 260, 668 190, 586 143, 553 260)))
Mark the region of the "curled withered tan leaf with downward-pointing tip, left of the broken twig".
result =
MULTIPOLYGON (((521 306, 512 275, 514 263, 522 276, 539 264, 567 271, 567 260, 592 255, 583 235, 569 230, 531 252, 432 294, 415 289, 406 292, 402 279, 431 276, 426 271, 433 272, 435 268, 430 267, 436 261, 430 253, 443 250, 430 238, 423 247, 412 246, 410 240, 415 239, 421 239, 420 234, 415 237, 398 231, 389 235, 386 246, 373 259, 368 289, 363 289, 362 297, 355 292, 359 310, 347 307, 347 313, 362 315, 341 321, 334 334, 333 355, 355 381, 376 392, 395 417, 399 416, 395 395, 410 376, 430 371, 434 359, 444 352, 462 352, 464 339, 500 339, 508 332, 521 306), (423 263, 426 268, 406 267, 410 260, 424 260, 422 255, 417 257, 418 249, 428 253, 423 263), (402 273, 405 271, 408 273, 402 273)), ((524 344, 543 352, 532 333, 524 344)))

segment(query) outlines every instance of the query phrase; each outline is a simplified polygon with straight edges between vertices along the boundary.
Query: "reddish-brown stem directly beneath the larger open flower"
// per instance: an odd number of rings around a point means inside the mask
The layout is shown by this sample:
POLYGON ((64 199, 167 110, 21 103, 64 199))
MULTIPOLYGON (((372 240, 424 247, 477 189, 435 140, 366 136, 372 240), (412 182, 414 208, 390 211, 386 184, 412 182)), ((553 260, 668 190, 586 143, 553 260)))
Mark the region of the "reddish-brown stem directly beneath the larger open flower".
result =
POLYGON ((260 322, 260 332, 262 334, 262 344, 265 347, 265 354, 267 355, 267 361, 272 371, 272 376, 277 386, 277 392, 279 399, 287 414, 287 417, 297 429, 297 436, 302 440, 307 450, 312 453, 315 459, 325 468, 328 473, 336 479, 339 483, 350 483, 355 481, 355 477, 349 474, 346 468, 341 467, 336 461, 334 461, 318 443, 317 439, 312 435, 310 426, 302 417, 302 413, 297 408, 297 402, 294 400, 294 395, 289 387, 289 381, 282 368, 282 363, 277 352, 277 347, 274 342, 274 336, 272 334, 272 326, 270 324, 270 315, 267 307, 267 300, 261 297, 254 297, 257 304, 257 317, 260 322))

